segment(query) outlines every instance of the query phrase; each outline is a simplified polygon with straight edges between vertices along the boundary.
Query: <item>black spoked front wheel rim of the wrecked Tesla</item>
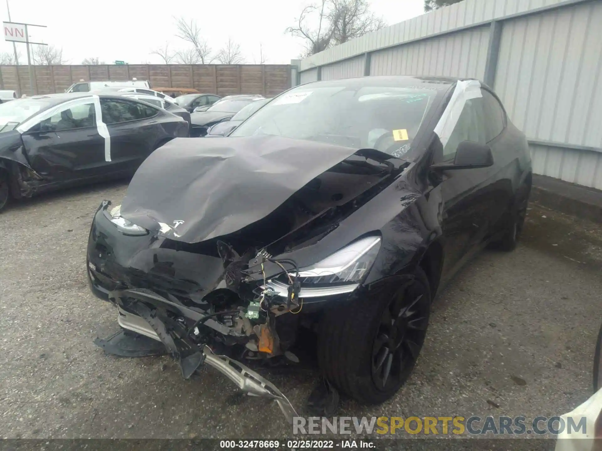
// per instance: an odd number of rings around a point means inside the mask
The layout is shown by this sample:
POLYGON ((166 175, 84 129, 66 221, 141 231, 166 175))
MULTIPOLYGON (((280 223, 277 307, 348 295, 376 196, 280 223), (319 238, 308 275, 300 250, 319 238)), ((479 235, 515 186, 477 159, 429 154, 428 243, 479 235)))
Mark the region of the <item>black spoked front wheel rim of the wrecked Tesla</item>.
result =
POLYGON ((425 287, 412 281, 386 305, 372 348, 372 379, 378 390, 397 389, 408 378, 426 336, 429 304, 425 287))

